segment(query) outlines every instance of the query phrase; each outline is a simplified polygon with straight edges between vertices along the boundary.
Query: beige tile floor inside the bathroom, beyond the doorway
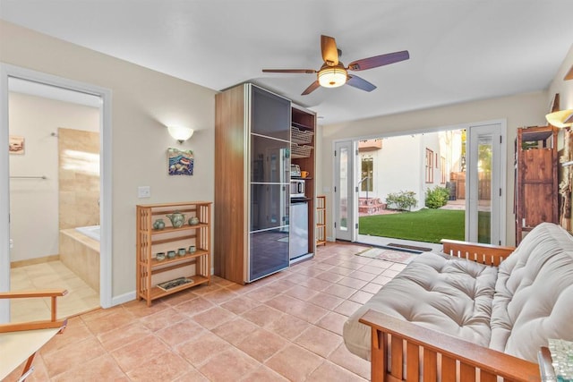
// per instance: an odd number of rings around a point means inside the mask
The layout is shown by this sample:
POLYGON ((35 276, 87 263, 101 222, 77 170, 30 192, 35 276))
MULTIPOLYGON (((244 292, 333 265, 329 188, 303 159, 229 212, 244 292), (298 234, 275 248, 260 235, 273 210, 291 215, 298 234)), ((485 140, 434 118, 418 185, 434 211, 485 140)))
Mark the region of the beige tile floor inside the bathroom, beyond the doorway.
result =
MULTIPOLYGON (((48 261, 10 269, 12 291, 64 288, 68 291, 57 301, 58 318, 72 317, 99 308, 99 293, 76 276, 61 261, 48 261)), ((50 299, 13 300, 12 321, 34 321, 50 318, 50 299)))

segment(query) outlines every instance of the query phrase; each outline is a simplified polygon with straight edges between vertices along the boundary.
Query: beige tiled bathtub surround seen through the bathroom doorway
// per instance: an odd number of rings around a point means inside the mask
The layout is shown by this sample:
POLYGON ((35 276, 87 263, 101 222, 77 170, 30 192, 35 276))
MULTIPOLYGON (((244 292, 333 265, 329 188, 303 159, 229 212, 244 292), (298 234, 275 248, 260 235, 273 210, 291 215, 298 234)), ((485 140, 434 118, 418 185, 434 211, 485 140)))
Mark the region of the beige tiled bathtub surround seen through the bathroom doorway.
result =
POLYGON ((99 225, 60 231, 60 260, 99 292, 99 225))

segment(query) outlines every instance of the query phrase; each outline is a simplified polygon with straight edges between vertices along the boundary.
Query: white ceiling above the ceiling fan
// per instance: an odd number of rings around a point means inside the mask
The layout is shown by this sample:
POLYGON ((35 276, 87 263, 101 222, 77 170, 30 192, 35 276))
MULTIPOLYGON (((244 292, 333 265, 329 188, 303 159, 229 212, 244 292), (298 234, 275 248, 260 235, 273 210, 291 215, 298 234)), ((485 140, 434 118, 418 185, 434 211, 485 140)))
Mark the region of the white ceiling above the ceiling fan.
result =
POLYGON ((310 107, 321 123, 547 89, 573 43, 571 0, 0 0, 0 18, 83 47, 226 89, 252 81, 310 107), (320 36, 341 61, 408 50, 355 72, 378 86, 300 96, 320 36))

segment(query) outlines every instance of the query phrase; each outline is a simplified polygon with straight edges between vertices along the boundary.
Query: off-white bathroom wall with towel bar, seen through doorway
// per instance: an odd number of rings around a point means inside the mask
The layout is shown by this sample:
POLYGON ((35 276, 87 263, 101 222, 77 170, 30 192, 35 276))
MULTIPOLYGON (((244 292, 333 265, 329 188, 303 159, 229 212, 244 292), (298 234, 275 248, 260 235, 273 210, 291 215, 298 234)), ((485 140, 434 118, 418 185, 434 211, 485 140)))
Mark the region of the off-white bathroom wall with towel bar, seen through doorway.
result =
POLYGON ((10 175, 47 177, 10 181, 11 260, 57 255, 58 138, 52 134, 64 126, 97 131, 99 112, 90 106, 14 92, 8 104, 10 134, 23 136, 25 144, 23 155, 9 156, 10 175))

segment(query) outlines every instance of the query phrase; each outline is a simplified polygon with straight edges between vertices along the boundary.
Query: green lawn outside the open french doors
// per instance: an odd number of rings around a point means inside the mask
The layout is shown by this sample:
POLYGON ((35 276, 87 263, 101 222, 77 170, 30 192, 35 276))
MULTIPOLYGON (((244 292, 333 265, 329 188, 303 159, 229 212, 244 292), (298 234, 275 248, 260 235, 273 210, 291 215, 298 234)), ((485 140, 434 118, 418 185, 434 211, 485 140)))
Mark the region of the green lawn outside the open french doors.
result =
POLYGON ((362 216, 359 218, 359 233, 416 242, 464 240, 465 219, 465 211, 431 208, 392 215, 362 216))

